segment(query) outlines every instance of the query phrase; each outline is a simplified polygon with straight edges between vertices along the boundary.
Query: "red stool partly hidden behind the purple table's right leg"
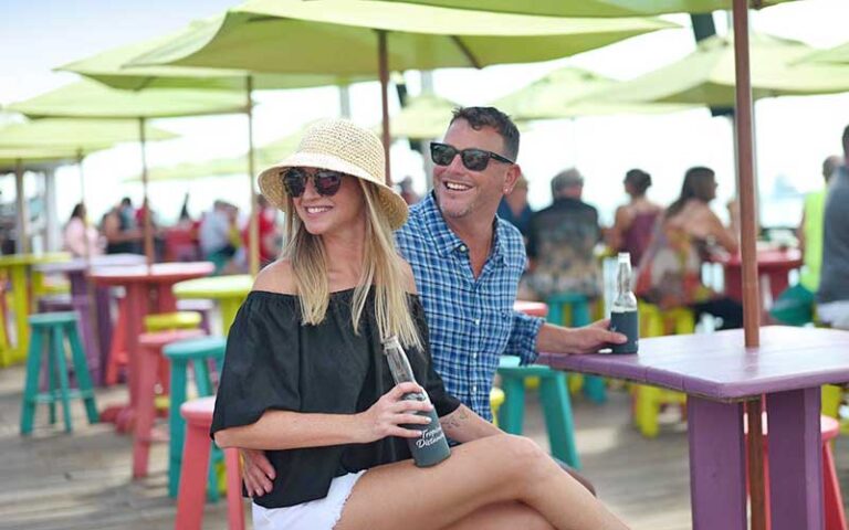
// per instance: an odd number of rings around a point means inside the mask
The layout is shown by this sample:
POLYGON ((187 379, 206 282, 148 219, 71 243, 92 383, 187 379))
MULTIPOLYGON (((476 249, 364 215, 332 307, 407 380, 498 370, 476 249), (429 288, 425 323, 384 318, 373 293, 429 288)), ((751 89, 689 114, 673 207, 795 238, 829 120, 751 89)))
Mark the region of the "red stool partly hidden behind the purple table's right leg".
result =
MULTIPOLYGON (((744 416, 745 417, 745 416, 744 416)), ((746 432, 748 423, 744 421, 746 432)), ((769 513, 769 443, 767 439, 766 415, 764 425, 764 488, 766 498, 766 528, 771 528, 769 513)), ((840 492, 840 481, 837 479, 835 457, 831 453, 831 441, 840 433, 840 423, 834 417, 819 416, 819 432, 822 436, 822 504, 825 505, 826 529, 846 530, 846 512, 843 498, 840 492)), ((748 488, 746 488, 748 489, 748 488)))

